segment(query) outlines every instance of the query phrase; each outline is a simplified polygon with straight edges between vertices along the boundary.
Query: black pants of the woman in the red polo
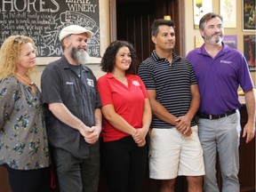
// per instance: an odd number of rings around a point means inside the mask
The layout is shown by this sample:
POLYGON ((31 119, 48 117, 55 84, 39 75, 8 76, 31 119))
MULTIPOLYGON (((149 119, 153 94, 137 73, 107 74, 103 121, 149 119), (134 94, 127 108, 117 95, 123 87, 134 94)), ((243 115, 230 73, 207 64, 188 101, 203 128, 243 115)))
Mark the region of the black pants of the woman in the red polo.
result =
POLYGON ((132 137, 103 142, 102 146, 110 192, 140 191, 147 166, 147 146, 137 147, 132 137))

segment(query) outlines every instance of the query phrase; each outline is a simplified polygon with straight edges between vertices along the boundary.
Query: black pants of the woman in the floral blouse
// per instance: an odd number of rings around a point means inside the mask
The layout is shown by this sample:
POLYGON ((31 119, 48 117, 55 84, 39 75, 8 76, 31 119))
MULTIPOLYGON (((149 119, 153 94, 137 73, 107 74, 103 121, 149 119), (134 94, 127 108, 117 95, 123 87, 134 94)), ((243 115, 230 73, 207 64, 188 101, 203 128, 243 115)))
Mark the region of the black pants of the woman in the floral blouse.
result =
POLYGON ((7 166, 12 192, 50 192, 50 169, 15 170, 7 166))

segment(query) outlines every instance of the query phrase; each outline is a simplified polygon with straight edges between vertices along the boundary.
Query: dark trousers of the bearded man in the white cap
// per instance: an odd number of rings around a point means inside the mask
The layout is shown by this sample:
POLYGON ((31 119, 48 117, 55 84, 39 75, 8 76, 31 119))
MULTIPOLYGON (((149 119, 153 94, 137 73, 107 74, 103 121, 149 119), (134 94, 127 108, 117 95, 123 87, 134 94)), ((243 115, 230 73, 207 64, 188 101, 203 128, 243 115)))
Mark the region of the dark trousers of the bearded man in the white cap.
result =
POLYGON ((61 148, 52 148, 60 192, 97 192, 100 179, 100 141, 89 145, 89 157, 77 158, 61 148))

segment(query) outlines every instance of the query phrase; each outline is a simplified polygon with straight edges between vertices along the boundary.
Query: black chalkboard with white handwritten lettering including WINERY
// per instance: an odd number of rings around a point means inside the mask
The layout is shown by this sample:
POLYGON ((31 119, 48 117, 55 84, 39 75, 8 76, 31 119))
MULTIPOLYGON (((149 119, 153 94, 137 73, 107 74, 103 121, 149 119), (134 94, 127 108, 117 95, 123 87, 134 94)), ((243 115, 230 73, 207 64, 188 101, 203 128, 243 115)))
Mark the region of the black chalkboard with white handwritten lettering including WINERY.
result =
POLYGON ((80 25, 94 34, 88 39, 91 57, 100 58, 100 0, 0 0, 0 45, 11 35, 30 36, 37 57, 59 57, 60 30, 80 25))

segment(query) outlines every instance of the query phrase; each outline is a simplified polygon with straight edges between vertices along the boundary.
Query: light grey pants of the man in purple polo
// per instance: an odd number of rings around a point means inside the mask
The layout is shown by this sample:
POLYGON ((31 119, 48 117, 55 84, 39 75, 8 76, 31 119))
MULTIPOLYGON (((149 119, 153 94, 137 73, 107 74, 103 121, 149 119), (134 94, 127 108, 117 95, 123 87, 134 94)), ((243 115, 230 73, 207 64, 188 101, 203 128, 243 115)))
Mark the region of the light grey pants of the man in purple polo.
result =
POLYGON ((239 192, 240 113, 220 119, 200 118, 199 140, 204 150, 204 192, 219 192, 216 179, 216 156, 220 157, 223 192, 239 192))

